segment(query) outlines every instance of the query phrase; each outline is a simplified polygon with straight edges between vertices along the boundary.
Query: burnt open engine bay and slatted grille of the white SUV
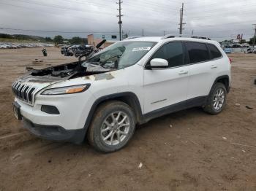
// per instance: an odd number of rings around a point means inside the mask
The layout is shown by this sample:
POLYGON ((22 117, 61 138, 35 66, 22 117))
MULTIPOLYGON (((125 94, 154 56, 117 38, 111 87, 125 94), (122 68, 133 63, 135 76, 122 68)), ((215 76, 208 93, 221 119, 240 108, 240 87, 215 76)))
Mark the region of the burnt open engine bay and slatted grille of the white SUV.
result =
POLYGON ((101 74, 110 69, 102 66, 83 63, 83 61, 61 64, 45 69, 26 68, 28 71, 23 77, 20 77, 12 84, 12 92, 15 97, 26 104, 34 104, 34 95, 42 88, 48 87, 67 79, 86 77, 94 74, 101 74))

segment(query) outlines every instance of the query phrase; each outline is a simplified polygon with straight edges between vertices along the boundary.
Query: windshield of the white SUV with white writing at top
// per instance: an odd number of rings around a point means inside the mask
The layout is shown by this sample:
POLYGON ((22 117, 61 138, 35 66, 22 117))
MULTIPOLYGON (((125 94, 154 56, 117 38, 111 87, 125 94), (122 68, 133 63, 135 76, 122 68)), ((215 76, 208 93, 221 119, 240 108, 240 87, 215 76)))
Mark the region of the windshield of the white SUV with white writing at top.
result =
POLYGON ((132 66, 151 50, 156 42, 116 42, 82 63, 97 64, 106 69, 124 69, 132 66))

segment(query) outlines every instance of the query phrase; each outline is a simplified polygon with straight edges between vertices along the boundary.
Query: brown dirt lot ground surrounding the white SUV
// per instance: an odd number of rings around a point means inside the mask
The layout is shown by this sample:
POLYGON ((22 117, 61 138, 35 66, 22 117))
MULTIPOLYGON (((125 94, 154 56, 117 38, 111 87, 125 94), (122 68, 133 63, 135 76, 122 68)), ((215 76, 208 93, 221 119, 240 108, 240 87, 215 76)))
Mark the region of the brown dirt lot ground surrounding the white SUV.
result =
POLYGON ((13 117, 10 86, 25 66, 75 60, 40 51, 0 50, 0 190, 256 190, 256 55, 230 55, 233 84, 221 114, 195 108, 151 120, 127 147, 103 155, 86 143, 38 139, 13 117))

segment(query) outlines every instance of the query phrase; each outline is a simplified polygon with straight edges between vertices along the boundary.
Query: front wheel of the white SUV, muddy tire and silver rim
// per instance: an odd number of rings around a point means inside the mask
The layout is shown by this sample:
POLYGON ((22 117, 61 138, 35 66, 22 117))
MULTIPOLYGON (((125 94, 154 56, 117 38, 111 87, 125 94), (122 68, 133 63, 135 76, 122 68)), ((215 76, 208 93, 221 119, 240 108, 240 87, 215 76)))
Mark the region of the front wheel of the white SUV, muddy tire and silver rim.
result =
POLYGON ((132 109, 124 102, 108 101, 94 113, 88 140, 89 144, 100 152, 115 152, 127 145, 134 131, 135 114, 132 109), (117 122, 122 121, 123 123, 118 125, 117 122))

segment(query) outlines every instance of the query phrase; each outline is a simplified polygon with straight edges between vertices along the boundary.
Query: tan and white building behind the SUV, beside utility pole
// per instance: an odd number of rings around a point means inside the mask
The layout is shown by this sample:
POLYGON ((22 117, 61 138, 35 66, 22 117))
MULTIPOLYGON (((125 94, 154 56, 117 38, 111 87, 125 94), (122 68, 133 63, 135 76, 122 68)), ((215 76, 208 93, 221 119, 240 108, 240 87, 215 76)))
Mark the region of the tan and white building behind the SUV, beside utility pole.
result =
POLYGON ((96 46, 103 39, 106 39, 107 42, 105 42, 102 45, 102 48, 105 48, 115 42, 118 42, 118 34, 89 34, 87 36, 87 39, 88 39, 88 44, 93 46, 96 46))

